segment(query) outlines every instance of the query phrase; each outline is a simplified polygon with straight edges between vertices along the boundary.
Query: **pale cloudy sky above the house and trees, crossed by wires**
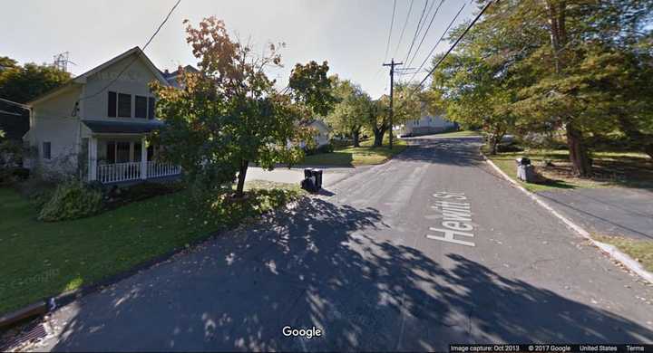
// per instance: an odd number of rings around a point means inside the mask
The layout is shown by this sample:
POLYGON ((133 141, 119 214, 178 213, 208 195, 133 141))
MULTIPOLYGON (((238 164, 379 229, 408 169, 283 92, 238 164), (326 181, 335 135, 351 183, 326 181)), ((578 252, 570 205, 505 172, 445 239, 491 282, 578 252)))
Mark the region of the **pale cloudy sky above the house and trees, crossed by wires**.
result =
MULTIPOLYGON (((354 81, 378 98, 389 88, 388 68, 382 63, 392 57, 404 60, 426 1, 429 7, 434 3, 433 14, 440 0, 396 0, 386 58, 394 0, 181 0, 145 53, 161 70, 173 71, 180 64, 196 65, 198 60, 186 43, 182 21, 189 19, 191 24, 198 24, 203 17, 215 15, 225 22, 229 33, 249 39, 258 51, 269 42, 287 44, 281 52, 285 67, 268 72, 280 85, 288 82, 295 63, 326 60, 330 74, 354 81)), ((471 19, 477 9, 467 1, 444 0, 411 67, 424 61, 464 4, 456 24, 471 19)), ((69 60, 74 64, 69 63, 68 71, 78 75, 133 46, 142 47, 175 2, 4 0, 0 13, 0 56, 21 63, 51 63, 54 54, 70 52, 69 60)), ((434 54, 445 51, 449 45, 443 41, 434 54)), ((429 64, 430 61, 426 66, 429 64)), ((424 75, 420 72, 414 80, 422 80, 424 75)))

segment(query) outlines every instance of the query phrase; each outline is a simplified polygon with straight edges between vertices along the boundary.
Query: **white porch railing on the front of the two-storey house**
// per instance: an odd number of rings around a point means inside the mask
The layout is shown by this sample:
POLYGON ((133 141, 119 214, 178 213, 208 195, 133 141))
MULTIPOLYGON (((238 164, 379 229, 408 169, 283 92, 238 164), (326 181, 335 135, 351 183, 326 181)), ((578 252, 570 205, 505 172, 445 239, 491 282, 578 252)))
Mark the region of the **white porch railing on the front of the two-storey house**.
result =
MULTIPOLYGON (((181 167, 171 163, 148 161, 145 163, 145 178, 159 176, 176 176, 181 173, 181 167)), ((141 162, 115 163, 98 166, 97 179, 101 183, 119 183, 122 181, 139 180, 142 178, 141 162)))

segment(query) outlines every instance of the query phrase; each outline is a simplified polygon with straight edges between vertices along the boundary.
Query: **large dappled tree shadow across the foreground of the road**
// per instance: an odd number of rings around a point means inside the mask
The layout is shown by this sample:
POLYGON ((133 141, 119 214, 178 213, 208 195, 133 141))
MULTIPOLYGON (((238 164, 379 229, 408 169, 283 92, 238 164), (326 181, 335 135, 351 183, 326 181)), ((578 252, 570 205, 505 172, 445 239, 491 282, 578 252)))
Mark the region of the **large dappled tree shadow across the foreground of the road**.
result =
POLYGON ((392 235, 374 208, 307 198, 72 305, 52 348, 446 350, 450 342, 653 340, 627 318, 460 254, 435 262, 392 235), (316 326, 324 336, 287 338, 286 325, 316 326))

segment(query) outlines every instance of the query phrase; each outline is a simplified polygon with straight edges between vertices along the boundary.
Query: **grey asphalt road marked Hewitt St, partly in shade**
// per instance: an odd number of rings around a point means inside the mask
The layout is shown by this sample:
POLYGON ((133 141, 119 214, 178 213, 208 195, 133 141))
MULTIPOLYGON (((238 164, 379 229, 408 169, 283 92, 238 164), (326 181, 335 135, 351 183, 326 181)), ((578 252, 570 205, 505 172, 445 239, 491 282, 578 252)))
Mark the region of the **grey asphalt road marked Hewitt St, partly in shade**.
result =
POLYGON ((477 139, 414 142, 323 196, 57 310, 57 335, 37 349, 653 342, 653 287, 493 174, 477 139), (431 229, 451 227, 466 234, 431 229), (288 338, 286 325, 323 336, 288 338))

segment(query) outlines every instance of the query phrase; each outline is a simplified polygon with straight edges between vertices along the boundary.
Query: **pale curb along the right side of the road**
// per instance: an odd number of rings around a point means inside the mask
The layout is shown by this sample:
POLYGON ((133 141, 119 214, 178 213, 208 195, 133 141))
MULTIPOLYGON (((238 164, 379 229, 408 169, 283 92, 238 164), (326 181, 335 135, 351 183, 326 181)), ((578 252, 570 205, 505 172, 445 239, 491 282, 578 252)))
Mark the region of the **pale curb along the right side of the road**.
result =
POLYGON ((653 283, 653 273, 648 272, 642 265, 635 261, 633 258, 631 258, 628 254, 622 253, 615 247, 614 245, 610 245, 609 243, 601 243, 594 238, 591 237, 590 232, 586 231, 583 227, 581 227, 579 224, 575 224, 570 221, 569 218, 565 217, 564 215, 560 215, 560 213, 556 210, 554 210, 551 205, 548 205, 546 202, 544 202, 540 196, 535 195, 534 193, 531 193, 530 191, 526 190, 523 186, 519 185, 518 182, 514 181, 512 177, 508 176, 505 174, 501 168, 497 167, 494 162, 488 157, 486 157, 483 153, 481 153, 481 156, 485 161, 496 171, 498 172, 504 179, 508 180, 512 186, 518 188, 526 194, 527 196, 531 197, 532 200, 534 200, 536 203, 544 207, 547 211, 551 213, 551 215, 556 216, 562 223, 567 225, 571 230, 574 232, 580 234, 583 238, 589 240, 594 246, 598 247, 600 251, 603 253, 607 253, 612 259, 620 262, 626 268, 628 268, 630 271, 635 272, 638 274, 639 277, 642 279, 653 283))

